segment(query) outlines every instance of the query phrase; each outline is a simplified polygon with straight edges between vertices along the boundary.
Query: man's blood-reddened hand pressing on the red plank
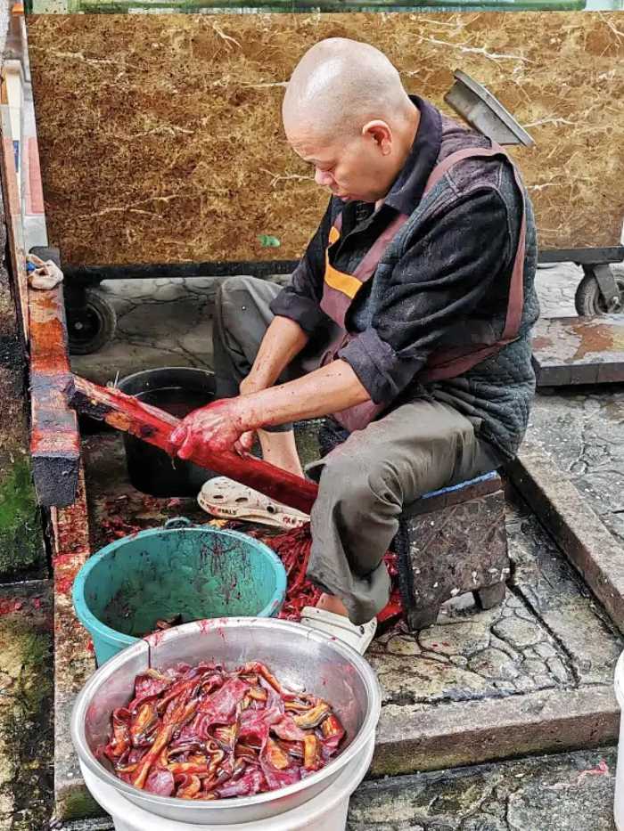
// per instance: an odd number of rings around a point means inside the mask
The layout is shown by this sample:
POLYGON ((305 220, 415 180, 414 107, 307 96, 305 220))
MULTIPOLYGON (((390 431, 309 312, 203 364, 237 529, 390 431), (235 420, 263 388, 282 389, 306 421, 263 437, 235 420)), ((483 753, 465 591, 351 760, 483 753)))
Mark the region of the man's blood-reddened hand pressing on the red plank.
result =
POLYGON ((189 459, 200 447, 243 454, 251 450, 253 431, 244 423, 241 399, 226 398, 189 413, 170 440, 180 459, 189 459))

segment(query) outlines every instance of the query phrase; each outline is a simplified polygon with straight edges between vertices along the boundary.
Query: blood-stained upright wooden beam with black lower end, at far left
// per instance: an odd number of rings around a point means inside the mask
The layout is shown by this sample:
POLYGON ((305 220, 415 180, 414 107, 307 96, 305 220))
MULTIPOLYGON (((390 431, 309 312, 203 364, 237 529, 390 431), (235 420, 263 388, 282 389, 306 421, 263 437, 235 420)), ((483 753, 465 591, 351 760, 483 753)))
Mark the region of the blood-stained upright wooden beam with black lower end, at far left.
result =
POLYGON ((70 382, 62 287, 29 289, 30 453, 37 500, 70 505, 78 487, 80 439, 65 389, 70 382))

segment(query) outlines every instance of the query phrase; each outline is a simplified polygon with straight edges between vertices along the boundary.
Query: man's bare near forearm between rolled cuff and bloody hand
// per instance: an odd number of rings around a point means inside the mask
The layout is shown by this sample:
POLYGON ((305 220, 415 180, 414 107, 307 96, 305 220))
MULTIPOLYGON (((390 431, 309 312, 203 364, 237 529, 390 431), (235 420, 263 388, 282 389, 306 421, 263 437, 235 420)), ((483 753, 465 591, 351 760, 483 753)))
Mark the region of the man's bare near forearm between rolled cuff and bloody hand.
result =
POLYGON ((314 419, 370 400, 346 361, 333 361, 303 378, 236 400, 244 430, 314 419))

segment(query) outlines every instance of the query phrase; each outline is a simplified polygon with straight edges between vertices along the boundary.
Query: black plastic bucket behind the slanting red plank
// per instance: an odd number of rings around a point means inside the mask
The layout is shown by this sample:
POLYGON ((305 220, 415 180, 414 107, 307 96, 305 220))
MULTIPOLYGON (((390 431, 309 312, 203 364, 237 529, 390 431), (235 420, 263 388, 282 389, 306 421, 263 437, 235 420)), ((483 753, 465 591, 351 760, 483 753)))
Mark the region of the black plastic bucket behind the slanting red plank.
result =
MULTIPOLYGON (((135 372, 117 385, 127 395, 159 407, 182 419, 189 412, 214 401, 212 372, 192 367, 168 366, 135 372)), ((172 459, 166 452, 124 433, 127 473, 138 491, 152 496, 196 496, 201 485, 215 476, 189 461, 172 459)))

